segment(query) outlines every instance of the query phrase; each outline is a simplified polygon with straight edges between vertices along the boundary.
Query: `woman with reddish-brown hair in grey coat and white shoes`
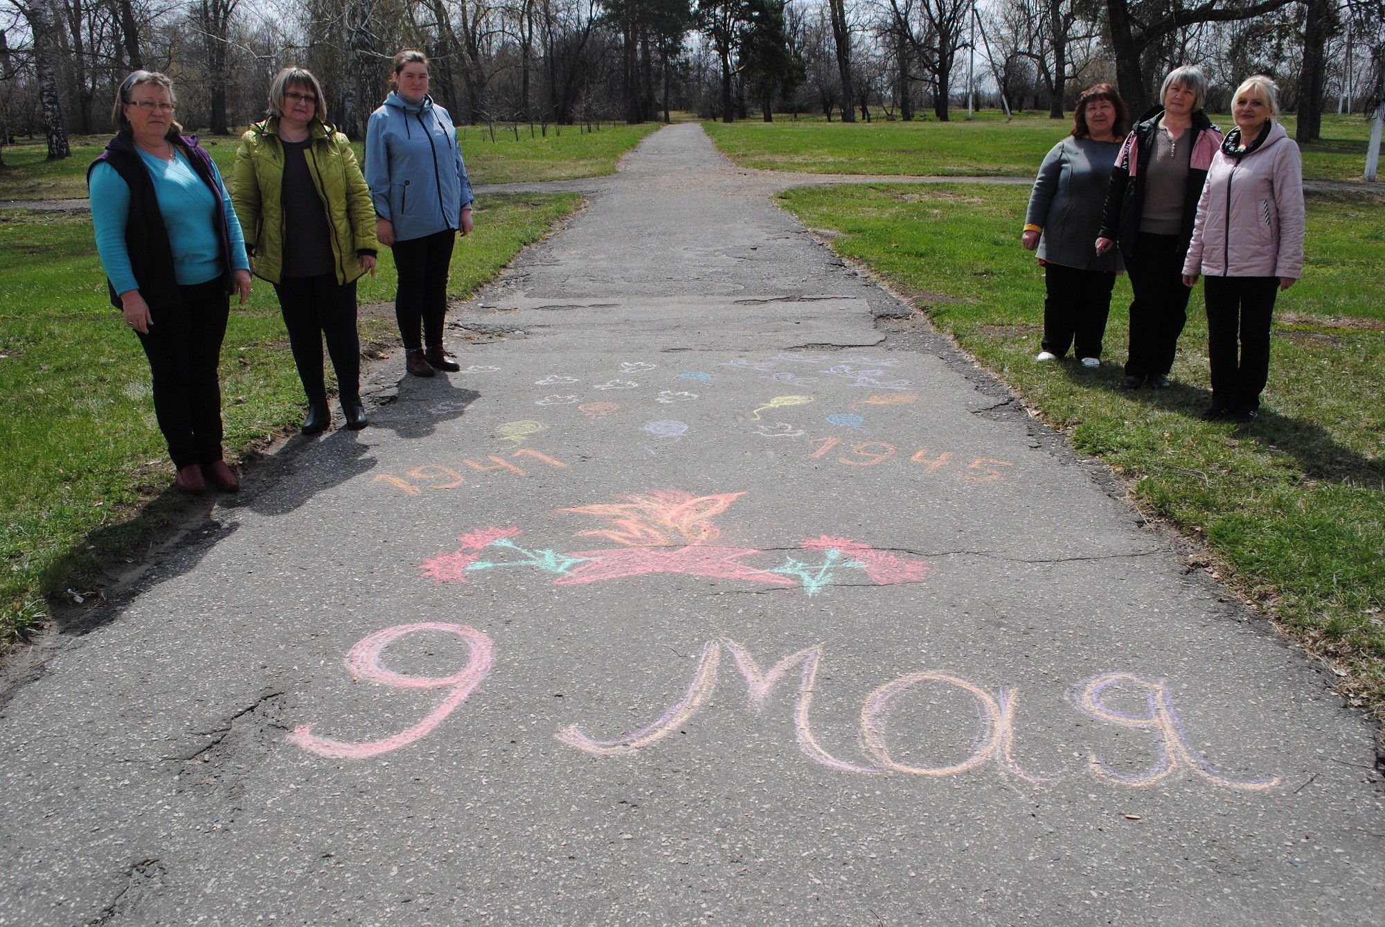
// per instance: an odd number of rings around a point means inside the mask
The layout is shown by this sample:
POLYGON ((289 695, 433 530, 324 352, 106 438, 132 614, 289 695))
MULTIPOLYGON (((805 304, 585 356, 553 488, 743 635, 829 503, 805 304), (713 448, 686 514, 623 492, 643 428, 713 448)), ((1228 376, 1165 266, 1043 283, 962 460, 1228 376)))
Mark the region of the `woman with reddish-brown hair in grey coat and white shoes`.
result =
POLYGON ((1022 238, 1025 248, 1039 251, 1047 287, 1043 351, 1036 360, 1057 360, 1075 344, 1083 366, 1101 366, 1111 290, 1123 265, 1115 251, 1098 256, 1094 240, 1120 151, 1118 127, 1126 118, 1126 105, 1109 83, 1084 90, 1072 133, 1039 168, 1022 238))

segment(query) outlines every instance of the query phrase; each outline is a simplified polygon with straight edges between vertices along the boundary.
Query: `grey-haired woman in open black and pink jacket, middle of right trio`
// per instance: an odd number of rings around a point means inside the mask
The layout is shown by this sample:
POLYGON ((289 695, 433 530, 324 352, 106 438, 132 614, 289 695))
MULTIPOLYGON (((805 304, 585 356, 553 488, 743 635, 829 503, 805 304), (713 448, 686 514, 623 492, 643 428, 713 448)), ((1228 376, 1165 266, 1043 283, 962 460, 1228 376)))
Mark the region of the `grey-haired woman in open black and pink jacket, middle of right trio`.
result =
POLYGON ((1206 78, 1199 69, 1170 71, 1159 89, 1161 105, 1140 116, 1111 172, 1097 254, 1119 247, 1134 291, 1130 352, 1120 378, 1125 389, 1143 382, 1169 387, 1188 319, 1183 258, 1202 180, 1222 144, 1222 133, 1202 112, 1205 98, 1206 78))

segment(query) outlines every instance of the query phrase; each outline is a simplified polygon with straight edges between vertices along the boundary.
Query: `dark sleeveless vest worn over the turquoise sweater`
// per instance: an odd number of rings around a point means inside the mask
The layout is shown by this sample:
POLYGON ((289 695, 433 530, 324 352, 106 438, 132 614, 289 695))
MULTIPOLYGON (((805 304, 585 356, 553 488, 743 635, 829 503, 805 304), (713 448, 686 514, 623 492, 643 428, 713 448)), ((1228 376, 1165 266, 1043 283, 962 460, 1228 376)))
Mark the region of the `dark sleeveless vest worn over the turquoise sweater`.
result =
MULTIPOLYGON (((187 155, 193 170, 202 179, 216 197, 217 226, 222 240, 222 283, 226 292, 231 292, 231 230, 226 219, 226 202, 222 200, 222 188, 216 183, 212 168, 212 157, 199 148, 195 136, 179 136, 173 145, 187 155)), ((140 287, 151 308, 176 306, 183 297, 177 288, 177 277, 173 273, 173 247, 169 244, 169 233, 163 226, 163 215, 159 212, 159 201, 154 193, 154 177, 140 158, 138 148, 134 147, 134 137, 129 132, 118 133, 105 145, 105 151, 87 168, 87 186, 90 187, 91 170, 98 164, 108 164, 115 168, 126 186, 130 187, 130 215, 125 223, 125 248, 130 254, 130 269, 134 272, 134 281, 140 287)), ((111 305, 122 308, 120 297, 109 280, 105 281, 111 292, 111 305)))

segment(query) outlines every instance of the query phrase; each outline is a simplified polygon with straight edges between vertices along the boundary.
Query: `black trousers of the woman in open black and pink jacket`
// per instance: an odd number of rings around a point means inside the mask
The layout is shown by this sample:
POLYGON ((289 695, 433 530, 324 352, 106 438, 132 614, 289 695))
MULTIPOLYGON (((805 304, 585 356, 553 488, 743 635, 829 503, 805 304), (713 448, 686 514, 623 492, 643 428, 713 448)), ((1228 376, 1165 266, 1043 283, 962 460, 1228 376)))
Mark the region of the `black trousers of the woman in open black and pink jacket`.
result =
POLYGON ((1191 290, 1183 285, 1183 249, 1179 236, 1141 231, 1133 255, 1126 255, 1130 274, 1130 355, 1126 374, 1169 376, 1179 351, 1179 335, 1188 320, 1191 290))

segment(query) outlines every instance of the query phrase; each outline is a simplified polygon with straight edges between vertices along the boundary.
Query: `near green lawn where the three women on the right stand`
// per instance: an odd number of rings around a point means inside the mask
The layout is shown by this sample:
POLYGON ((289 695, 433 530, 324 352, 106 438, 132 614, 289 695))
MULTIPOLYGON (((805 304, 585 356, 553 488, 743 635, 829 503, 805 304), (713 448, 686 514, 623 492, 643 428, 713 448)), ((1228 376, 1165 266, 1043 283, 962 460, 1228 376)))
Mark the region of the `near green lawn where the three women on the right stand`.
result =
POLYGON ((961 348, 1078 450, 1123 474, 1140 507, 1205 540, 1235 588, 1385 716, 1385 198, 1309 197, 1303 280, 1276 308, 1252 425, 1208 424, 1201 287, 1166 392, 1116 388, 1130 290, 1105 363, 1037 364, 1043 276, 1019 247, 1026 188, 873 184, 783 194, 832 247, 911 294, 961 348))

